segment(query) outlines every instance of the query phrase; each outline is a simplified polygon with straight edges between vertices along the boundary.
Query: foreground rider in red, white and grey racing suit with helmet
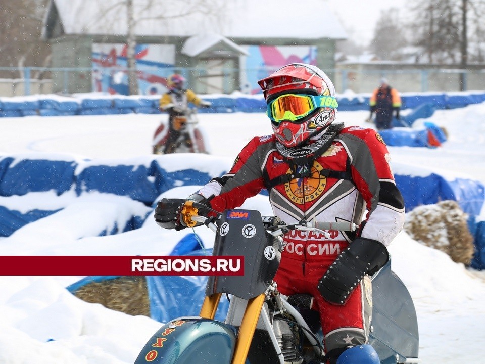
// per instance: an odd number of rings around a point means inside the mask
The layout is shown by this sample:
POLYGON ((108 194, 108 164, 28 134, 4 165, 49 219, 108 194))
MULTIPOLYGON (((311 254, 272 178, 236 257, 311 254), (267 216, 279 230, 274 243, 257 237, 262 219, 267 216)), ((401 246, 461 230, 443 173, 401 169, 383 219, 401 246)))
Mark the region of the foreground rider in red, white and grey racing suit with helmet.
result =
MULTIPOLYGON (((368 345, 369 276, 389 260, 386 246, 402 230, 405 217, 387 147, 375 130, 335 121, 334 86, 313 65, 289 64, 258 83, 274 133, 253 138, 228 173, 186 200, 223 211, 267 189, 274 215, 288 224, 301 219, 355 222, 356 232, 330 231, 329 239, 313 232, 286 234, 274 280, 282 294, 313 296, 325 362, 379 363, 368 345)), ((180 206, 186 200, 162 199, 156 222, 183 229, 180 206)))

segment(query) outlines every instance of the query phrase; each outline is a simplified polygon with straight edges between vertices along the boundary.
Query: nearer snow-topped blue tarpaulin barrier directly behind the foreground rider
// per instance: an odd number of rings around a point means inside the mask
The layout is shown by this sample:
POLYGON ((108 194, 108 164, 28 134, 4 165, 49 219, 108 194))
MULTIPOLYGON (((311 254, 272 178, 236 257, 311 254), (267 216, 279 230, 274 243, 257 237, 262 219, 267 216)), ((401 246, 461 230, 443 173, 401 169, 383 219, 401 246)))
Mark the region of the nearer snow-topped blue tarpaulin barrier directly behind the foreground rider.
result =
MULTIPOLYGON (((41 159, 39 153, 32 158, 25 155, 4 156, 0 158, 0 196, 27 197, 28 193, 55 193, 63 196, 72 193, 80 196, 88 192, 126 196, 144 206, 153 206, 157 197, 173 187, 184 185, 203 185, 210 178, 222 175, 230 168, 231 160, 210 155, 194 155, 185 169, 174 168, 176 156, 147 156, 134 160, 86 161, 74 160, 69 156, 41 159), (171 160, 171 158, 175 158, 171 160), (211 173, 200 170, 211 166, 211 173), (188 166, 192 167, 189 168, 188 166), (214 167, 216 166, 216 167, 214 167), (168 168, 170 167, 170 168, 168 168), (214 169, 215 168, 215 169, 214 169), (217 172, 216 172, 217 171, 217 172), (27 196, 26 196, 27 195, 27 196)), ((416 206, 435 204, 442 200, 455 200, 463 211, 479 215, 485 200, 485 188, 479 181, 467 178, 445 178, 439 173, 425 171, 420 175, 401 172, 399 164, 393 165, 396 183, 401 190, 405 207, 411 211, 416 206)), ((406 171, 407 168, 401 169, 406 171)), ((413 168, 415 170, 415 168, 413 168)), ((0 204, 2 223, 0 236, 10 236, 28 222, 56 213, 59 208, 25 208, 18 211, 8 204, 0 204)), ((25 206, 25 204, 23 204, 25 206)), ((137 229, 146 216, 129 216, 118 223, 116 232, 137 229)), ((99 234, 112 234, 113 231, 100 231, 99 234)))

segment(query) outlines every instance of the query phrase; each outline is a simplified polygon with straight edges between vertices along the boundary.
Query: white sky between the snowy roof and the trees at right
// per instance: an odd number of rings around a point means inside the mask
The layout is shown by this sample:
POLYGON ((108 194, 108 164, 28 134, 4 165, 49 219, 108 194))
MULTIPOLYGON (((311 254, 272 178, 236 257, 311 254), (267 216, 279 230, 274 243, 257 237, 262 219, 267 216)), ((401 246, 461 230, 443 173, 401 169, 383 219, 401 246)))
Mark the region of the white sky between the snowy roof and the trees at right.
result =
POLYGON ((409 0, 326 0, 326 3, 342 22, 349 39, 368 45, 381 10, 398 8, 400 14, 405 14, 409 0))

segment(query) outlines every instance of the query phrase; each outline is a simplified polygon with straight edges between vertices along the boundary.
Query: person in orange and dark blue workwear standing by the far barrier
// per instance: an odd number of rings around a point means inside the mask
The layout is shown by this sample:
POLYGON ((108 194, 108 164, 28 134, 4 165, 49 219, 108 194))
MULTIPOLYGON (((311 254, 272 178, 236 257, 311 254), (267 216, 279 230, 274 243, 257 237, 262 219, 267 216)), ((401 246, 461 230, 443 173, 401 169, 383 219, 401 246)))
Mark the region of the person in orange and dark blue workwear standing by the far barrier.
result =
POLYGON ((367 120, 371 122, 375 113, 375 126, 377 130, 391 129, 393 127, 393 111, 399 120, 399 110, 401 109, 401 96, 396 88, 387 83, 387 79, 380 80, 380 86, 374 90, 369 100, 370 116, 367 120))

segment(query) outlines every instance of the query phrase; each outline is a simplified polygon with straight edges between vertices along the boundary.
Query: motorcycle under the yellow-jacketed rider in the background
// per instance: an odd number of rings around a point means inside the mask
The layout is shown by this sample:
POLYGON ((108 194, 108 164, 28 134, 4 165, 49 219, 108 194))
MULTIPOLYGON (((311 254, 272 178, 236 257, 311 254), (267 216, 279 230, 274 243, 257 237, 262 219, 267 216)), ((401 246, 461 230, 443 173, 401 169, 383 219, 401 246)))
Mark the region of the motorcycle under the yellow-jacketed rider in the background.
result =
MULTIPOLYGON (((175 130, 180 132, 169 153, 208 153, 203 131, 199 127, 197 108, 188 108, 173 116, 175 130)), ((153 154, 164 154, 168 125, 161 123, 153 135, 153 154)))

